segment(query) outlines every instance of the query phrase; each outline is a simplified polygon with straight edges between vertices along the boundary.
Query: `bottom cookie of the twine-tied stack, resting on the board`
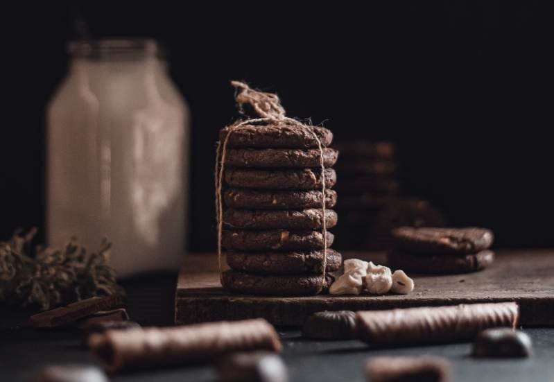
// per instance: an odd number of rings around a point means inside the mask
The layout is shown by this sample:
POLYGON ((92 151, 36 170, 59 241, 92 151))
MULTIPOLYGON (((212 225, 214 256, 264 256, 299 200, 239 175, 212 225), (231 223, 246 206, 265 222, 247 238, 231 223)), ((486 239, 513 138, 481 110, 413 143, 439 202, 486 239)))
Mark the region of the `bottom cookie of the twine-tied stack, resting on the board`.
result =
POLYGON ((324 283, 322 281, 322 275, 254 275, 236 270, 226 270, 223 272, 221 284, 223 288, 234 293, 302 296, 316 295, 321 290, 327 290, 333 282, 333 277, 327 275, 324 283))

